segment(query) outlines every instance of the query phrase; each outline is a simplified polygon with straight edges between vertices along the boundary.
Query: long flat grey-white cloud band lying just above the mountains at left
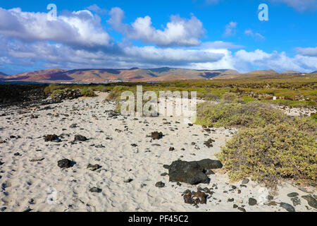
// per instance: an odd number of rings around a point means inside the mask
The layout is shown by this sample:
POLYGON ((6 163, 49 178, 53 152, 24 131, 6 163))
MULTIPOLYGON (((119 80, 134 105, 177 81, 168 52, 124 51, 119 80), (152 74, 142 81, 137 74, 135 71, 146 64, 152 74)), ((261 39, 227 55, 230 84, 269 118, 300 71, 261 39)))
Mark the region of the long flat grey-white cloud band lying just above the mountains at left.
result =
POLYGON ((0 52, 3 52, 8 59, 15 59, 14 64, 22 65, 27 59, 30 65, 41 61, 45 67, 63 69, 131 68, 135 66, 190 67, 197 63, 219 61, 224 57, 221 53, 207 52, 204 49, 135 47, 118 44, 113 49, 92 51, 91 49, 73 49, 65 44, 49 42, 12 42, 6 38, 0 38, 0 40, 3 44, 0 52))

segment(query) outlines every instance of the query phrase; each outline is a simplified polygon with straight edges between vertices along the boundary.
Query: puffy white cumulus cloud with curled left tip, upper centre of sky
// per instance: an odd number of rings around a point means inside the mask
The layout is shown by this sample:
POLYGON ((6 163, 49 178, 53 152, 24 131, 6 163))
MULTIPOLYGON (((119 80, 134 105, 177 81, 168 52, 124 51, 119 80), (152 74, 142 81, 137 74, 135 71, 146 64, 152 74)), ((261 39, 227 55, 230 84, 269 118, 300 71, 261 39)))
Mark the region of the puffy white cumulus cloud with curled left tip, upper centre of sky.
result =
POLYGON ((170 22, 163 30, 154 28, 149 16, 139 17, 131 25, 123 23, 124 12, 118 7, 111 8, 109 15, 111 18, 107 22, 112 28, 130 40, 142 40, 161 47, 197 46, 205 32, 201 21, 193 15, 189 19, 170 16, 170 22))

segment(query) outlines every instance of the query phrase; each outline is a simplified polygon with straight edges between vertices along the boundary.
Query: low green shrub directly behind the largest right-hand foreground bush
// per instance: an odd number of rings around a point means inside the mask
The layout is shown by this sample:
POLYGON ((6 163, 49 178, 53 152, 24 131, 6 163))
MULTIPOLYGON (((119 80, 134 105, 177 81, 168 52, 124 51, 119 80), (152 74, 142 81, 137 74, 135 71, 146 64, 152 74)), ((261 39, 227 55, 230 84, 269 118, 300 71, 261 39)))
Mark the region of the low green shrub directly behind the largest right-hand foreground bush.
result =
POLYGON ((263 102, 212 104, 203 102, 197 105, 197 124, 204 126, 247 126, 264 127, 278 124, 287 116, 279 109, 263 102))

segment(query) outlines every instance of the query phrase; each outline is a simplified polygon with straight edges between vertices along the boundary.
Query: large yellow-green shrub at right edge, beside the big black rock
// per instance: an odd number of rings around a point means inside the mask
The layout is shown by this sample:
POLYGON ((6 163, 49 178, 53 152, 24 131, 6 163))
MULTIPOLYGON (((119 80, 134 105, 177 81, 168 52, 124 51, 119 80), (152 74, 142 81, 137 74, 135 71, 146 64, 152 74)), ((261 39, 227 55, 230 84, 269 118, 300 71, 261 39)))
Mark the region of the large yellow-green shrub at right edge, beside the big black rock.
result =
POLYGON ((315 181, 316 153, 316 136, 285 122, 241 129, 216 156, 232 181, 251 176, 273 185, 286 178, 315 181))

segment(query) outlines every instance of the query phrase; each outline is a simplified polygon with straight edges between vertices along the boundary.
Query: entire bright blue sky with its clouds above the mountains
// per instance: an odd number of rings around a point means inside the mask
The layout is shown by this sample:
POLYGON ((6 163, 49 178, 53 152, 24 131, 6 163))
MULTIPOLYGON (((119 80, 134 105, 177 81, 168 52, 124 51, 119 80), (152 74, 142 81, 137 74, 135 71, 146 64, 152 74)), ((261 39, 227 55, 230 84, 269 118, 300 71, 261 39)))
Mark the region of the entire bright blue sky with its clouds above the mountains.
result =
POLYGON ((317 70, 317 0, 2 1, 0 71, 317 70), (46 6, 57 6, 47 18, 46 6), (268 21, 258 18, 268 5, 268 21))

